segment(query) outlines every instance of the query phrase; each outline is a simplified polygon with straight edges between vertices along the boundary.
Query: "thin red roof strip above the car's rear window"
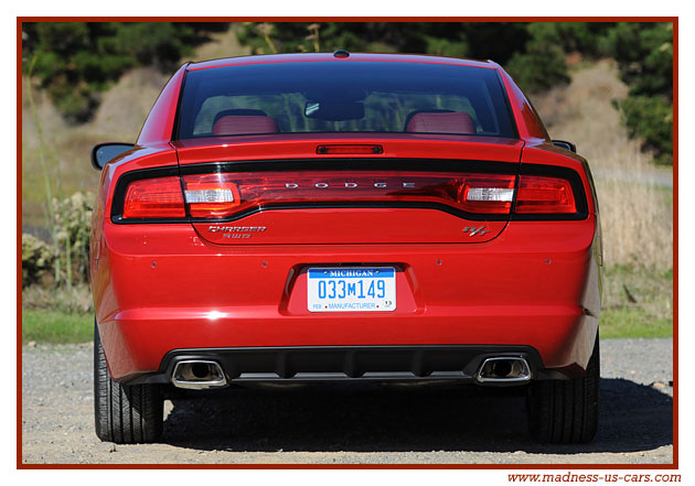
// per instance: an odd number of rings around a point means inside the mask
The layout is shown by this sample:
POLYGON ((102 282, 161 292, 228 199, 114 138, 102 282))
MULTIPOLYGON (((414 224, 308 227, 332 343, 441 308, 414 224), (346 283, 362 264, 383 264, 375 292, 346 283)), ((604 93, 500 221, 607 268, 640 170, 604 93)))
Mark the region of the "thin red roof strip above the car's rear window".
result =
POLYGON ((214 67, 242 66, 248 64, 274 63, 311 63, 311 62, 383 62, 383 63, 423 63, 423 64, 449 64, 456 66, 484 67, 496 69, 500 65, 492 61, 474 61, 457 57, 430 56, 423 54, 367 54, 350 53, 349 56, 336 56, 333 53, 298 53, 298 54, 269 54, 240 57, 227 57, 222 60, 190 63, 188 71, 210 69, 214 67))

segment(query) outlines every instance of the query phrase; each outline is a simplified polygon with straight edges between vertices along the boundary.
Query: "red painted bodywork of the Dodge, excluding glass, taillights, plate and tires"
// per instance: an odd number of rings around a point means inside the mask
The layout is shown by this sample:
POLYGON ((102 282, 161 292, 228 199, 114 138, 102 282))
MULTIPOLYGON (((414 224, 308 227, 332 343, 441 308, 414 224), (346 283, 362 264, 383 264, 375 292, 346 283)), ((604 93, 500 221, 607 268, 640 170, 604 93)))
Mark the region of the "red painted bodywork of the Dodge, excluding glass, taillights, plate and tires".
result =
MULTIPOLYGON (((404 168, 410 170, 407 164, 404 168)), ((338 170, 331 176, 343 181, 342 174, 338 170)), ((527 98, 492 62, 303 54, 186 64, 162 90, 135 148, 104 166, 90 251, 98 335, 111 379, 125 386, 170 380, 167 359, 178 350, 312 347, 378 352, 399 346, 478 346, 490 352, 521 346, 533 355, 532 378, 578 379, 585 376, 597 339, 602 263, 598 205, 588 165, 553 143, 527 98), (332 132, 179 140, 172 136, 186 73, 317 62, 493 69, 517 137, 332 132), (271 210, 264 210, 261 205, 232 223, 190 219, 128 224, 119 219, 122 212, 115 209, 127 184, 138 180, 137 174, 160 171, 160 175, 180 177, 205 172, 207 169, 200 168, 214 168, 221 161, 243 164, 244 171, 253 172, 254 164, 271 161, 280 168, 272 173, 281 176, 289 163, 290 173, 297 176, 291 163, 302 161, 304 169, 314 170, 314 162, 327 160, 321 147, 346 147, 348 153, 330 154, 331 166, 338 170, 344 160, 357 173, 379 161, 386 168, 389 161, 427 160, 443 166, 466 164, 461 161, 483 166, 491 162, 512 177, 545 174, 546 170, 563 177, 571 174, 575 197, 581 199, 585 210, 570 218, 467 219, 428 206, 356 203, 345 207, 329 203, 268 208, 271 210), (357 149, 351 151, 351 147, 357 149), (375 147, 378 153, 355 153, 360 147, 375 147), (480 227, 484 229, 475 233, 480 227), (308 268, 362 264, 395 269, 395 311, 308 310, 308 268)), ((302 369, 297 366, 296 370, 282 368, 286 372, 265 377, 299 379, 301 374, 295 371, 302 369)), ((391 369, 384 365, 378 371, 391 369)), ((224 372, 228 382, 243 381, 243 374, 224 372)), ((413 378, 437 376, 417 375, 413 378)), ((365 375, 350 378, 360 377, 365 375)), ((458 378, 472 381, 471 376, 458 378)))

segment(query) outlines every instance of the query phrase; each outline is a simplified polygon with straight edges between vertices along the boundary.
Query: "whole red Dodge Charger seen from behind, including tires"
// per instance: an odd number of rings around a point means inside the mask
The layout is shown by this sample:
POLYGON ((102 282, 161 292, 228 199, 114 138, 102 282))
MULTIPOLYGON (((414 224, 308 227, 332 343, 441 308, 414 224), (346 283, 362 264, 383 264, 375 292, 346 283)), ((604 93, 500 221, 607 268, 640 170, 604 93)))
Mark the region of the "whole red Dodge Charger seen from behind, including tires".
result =
POLYGON ((156 440, 172 387, 387 380, 525 387, 536 440, 595 435, 591 174, 500 65, 189 63, 92 155, 101 440, 156 440))

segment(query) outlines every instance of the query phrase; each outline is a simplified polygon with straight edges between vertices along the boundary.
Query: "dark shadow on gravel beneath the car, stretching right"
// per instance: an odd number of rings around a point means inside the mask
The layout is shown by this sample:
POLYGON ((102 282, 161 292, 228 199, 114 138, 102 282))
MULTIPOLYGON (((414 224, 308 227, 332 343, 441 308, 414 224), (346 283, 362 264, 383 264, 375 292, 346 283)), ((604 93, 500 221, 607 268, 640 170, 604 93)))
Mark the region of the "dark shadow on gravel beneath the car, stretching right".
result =
POLYGON ((553 454, 650 451, 673 443, 673 399, 650 386, 602 378, 599 432, 579 445, 535 443, 522 393, 474 386, 233 388, 173 399, 162 442, 239 452, 553 454))

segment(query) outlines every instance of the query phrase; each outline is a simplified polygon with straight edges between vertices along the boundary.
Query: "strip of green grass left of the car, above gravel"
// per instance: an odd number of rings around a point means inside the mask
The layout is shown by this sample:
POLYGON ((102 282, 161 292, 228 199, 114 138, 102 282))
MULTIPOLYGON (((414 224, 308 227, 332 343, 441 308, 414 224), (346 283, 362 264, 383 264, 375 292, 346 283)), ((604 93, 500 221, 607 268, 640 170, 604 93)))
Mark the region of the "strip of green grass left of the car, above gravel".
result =
POLYGON ((93 338, 94 315, 22 309, 22 343, 87 343, 93 338))

